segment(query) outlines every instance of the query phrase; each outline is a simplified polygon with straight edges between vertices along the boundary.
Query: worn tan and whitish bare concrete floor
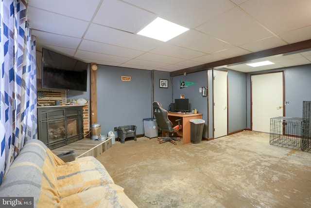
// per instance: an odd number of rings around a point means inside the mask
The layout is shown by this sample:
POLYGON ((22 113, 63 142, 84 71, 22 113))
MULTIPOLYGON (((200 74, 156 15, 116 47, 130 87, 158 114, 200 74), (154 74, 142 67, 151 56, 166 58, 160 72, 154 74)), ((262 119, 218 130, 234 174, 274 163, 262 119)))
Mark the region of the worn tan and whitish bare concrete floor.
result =
POLYGON ((240 132, 199 144, 116 142, 97 157, 139 208, 311 207, 311 153, 240 132))

